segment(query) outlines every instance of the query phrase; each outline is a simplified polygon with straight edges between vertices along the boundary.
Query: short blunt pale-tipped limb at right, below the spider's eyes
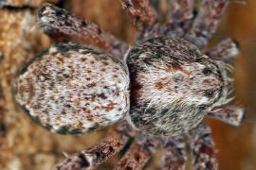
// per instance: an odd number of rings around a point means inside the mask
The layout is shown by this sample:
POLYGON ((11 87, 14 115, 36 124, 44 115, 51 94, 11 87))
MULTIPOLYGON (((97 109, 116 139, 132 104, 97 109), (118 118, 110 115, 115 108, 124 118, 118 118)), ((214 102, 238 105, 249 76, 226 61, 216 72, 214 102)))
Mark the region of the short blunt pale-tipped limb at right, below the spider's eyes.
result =
POLYGON ((225 105, 219 107, 217 110, 210 111, 208 116, 233 126, 239 126, 245 119, 245 110, 238 106, 225 105))

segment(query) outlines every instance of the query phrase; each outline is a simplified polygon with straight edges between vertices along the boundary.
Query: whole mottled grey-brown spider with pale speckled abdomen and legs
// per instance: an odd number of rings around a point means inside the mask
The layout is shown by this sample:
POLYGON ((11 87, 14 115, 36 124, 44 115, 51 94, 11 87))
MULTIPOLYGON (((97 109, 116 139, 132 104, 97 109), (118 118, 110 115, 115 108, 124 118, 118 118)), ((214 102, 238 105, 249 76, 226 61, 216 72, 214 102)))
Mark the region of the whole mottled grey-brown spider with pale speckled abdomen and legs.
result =
POLYGON ((163 169, 217 169, 205 116, 239 126, 244 109, 229 104, 229 60, 239 53, 228 38, 203 53, 229 0, 169 0, 159 24, 148 0, 120 0, 137 25, 129 47, 95 24, 45 4, 38 26, 56 43, 37 54, 14 83, 14 97, 36 123, 61 134, 86 134, 116 124, 113 136, 53 169, 101 164, 132 140, 115 169, 142 169, 163 148, 163 169), (193 19, 194 18, 194 19, 193 19), (192 22, 192 20, 194 20, 192 22), (85 43, 86 45, 82 45, 85 43))

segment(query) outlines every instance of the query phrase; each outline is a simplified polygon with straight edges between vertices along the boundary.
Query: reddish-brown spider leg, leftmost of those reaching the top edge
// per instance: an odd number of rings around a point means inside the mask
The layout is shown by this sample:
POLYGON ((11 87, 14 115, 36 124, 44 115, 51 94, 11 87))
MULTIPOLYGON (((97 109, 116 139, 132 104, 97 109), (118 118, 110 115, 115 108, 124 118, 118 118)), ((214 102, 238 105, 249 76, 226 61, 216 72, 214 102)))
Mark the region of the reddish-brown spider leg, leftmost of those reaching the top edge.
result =
POLYGON ((123 9, 134 19, 135 24, 154 26, 157 14, 148 0, 119 0, 123 9))

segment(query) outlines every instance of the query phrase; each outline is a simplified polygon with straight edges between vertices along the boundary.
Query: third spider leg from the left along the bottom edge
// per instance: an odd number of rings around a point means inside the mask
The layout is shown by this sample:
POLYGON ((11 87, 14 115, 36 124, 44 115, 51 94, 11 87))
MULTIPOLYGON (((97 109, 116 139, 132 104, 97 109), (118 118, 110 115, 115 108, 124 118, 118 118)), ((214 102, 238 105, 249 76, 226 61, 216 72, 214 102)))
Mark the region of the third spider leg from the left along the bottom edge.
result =
POLYGON ((186 168, 186 144, 183 136, 163 138, 162 145, 164 150, 163 169, 182 170, 186 168))

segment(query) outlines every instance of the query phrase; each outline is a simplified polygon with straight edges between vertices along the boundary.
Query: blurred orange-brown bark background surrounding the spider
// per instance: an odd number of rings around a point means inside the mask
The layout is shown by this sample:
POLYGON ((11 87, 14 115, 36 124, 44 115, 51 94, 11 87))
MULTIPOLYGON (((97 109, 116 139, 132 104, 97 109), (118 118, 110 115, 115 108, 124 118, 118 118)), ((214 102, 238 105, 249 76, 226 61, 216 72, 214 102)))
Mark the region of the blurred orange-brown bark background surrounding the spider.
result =
MULTIPOLYGON (((158 9, 165 9, 164 1, 158 9)), ((13 102, 11 84, 22 65, 35 53, 48 47, 50 40, 36 26, 40 1, 7 0, 0 6, 0 169, 46 170, 73 154, 98 143, 105 130, 86 136, 53 134, 35 125, 13 102)), ((51 0, 57 3, 58 0, 51 0)), ((153 1, 157 5, 157 0, 153 1)), ((136 27, 121 9, 119 0, 70 0, 59 6, 99 24, 119 39, 134 42, 136 27)), ((164 13, 162 13, 164 16, 164 13)), ((236 100, 247 109, 240 127, 208 120, 218 150, 220 170, 256 169, 256 1, 231 0, 229 9, 210 46, 232 37, 240 42, 242 53, 234 60, 236 100)), ((156 153, 146 169, 160 169, 156 153)), ((101 169, 111 169, 107 161, 101 169)))

